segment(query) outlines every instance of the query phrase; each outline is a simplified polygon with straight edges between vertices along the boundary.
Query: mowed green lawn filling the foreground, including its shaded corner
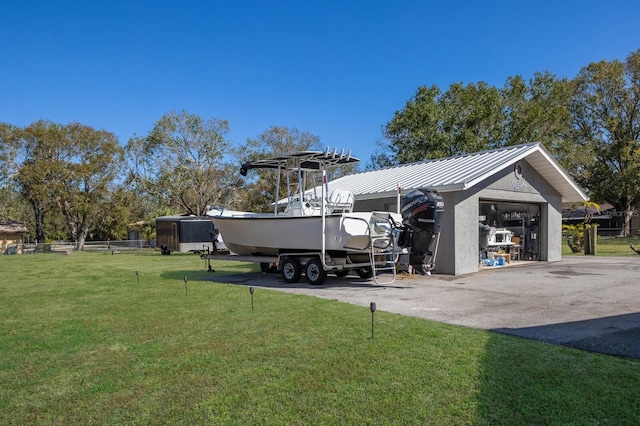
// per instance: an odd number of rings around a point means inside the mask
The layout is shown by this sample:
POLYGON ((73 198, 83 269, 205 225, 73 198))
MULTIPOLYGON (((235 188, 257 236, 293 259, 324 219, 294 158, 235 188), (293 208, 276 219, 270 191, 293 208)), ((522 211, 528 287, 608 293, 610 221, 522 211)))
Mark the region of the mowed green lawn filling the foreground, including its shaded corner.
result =
POLYGON ((252 310, 200 278, 256 266, 215 267, 0 256, 0 424, 640 424, 636 360, 384 311, 372 339, 368 308, 256 289, 252 310))

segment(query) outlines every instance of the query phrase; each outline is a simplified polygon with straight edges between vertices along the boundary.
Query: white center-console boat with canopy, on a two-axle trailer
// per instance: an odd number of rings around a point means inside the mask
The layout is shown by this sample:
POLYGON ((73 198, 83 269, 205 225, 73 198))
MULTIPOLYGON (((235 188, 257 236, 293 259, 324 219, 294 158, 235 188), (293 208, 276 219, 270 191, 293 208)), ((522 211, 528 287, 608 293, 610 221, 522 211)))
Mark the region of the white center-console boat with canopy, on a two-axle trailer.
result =
POLYGON ((275 264, 286 282, 297 282, 303 272, 311 284, 323 283, 327 272, 344 276, 355 271, 378 282, 379 274, 388 271, 395 279, 395 263, 409 250, 399 241, 411 240, 402 214, 354 212, 348 188, 328 191, 327 170, 358 161, 350 151, 327 149, 246 162, 240 168, 243 176, 253 169, 277 171, 273 211, 222 210, 211 220, 238 259, 275 264), (287 188, 283 198, 281 182, 287 188))

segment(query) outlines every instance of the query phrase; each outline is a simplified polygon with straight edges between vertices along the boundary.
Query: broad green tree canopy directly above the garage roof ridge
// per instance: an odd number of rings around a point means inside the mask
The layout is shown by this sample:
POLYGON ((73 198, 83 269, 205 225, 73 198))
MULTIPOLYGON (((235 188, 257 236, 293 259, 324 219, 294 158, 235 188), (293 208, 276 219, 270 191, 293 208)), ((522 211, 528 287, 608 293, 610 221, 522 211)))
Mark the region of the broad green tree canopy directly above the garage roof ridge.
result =
POLYGON ((541 142, 552 153, 567 149, 572 83, 550 73, 528 82, 511 77, 501 90, 485 82, 454 83, 442 93, 419 87, 384 128, 392 155, 374 164, 407 163, 541 142))

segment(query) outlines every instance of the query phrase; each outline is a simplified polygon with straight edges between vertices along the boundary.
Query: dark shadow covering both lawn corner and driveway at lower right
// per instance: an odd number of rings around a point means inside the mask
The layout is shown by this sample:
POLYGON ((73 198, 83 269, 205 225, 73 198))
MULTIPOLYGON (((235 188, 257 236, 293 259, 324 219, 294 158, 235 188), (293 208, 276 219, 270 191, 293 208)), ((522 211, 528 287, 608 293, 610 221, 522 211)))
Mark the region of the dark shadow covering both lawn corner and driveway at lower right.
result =
POLYGON ((640 366, 630 359, 640 358, 640 313, 492 331, 477 423, 640 423, 640 366), (593 352, 625 358, 605 363, 593 352))

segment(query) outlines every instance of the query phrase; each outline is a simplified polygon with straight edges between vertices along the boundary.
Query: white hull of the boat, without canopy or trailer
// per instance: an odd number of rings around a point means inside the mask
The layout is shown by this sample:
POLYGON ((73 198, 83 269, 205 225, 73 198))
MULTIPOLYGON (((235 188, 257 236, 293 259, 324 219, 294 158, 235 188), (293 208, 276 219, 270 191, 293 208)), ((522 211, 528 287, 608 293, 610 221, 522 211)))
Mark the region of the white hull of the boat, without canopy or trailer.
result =
MULTIPOLYGON (((348 255, 369 253, 370 224, 374 215, 374 212, 353 212, 324 216, 324 247, 322 216, 289 217, 249 213, 242 216, 213 216, 211 220, 229 251, 241 256, 274 256, 320 252, 323 249, 329 253, 348 255)), ((375 218, 373 222, 376 222, 375 218)), ((381 230, 389 234, 390 231, 381 230)))

